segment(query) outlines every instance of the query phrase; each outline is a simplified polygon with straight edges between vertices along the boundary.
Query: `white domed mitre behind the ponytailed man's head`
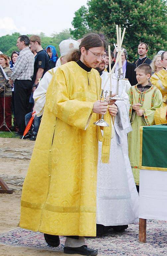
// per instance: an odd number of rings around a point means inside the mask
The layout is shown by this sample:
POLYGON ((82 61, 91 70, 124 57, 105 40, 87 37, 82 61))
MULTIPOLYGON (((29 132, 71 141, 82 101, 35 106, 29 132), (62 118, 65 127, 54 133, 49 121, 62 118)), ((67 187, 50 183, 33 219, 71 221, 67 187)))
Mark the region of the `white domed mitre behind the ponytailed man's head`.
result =
POLYGON ((79 42, 76 40, 69 38, 61 41, 59 44, 60 56, 63 57, 69 53, 72 49, 79 49, 79 42))

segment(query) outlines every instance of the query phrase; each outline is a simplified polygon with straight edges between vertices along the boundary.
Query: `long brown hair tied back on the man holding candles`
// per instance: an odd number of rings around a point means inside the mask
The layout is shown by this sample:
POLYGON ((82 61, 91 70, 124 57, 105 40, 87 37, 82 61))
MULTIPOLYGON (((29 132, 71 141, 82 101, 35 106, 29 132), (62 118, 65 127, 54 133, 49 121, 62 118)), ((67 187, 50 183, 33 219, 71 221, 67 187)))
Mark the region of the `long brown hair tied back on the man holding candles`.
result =
POLYGON ((85 50, 89 50, 94 47, 103 46, 106 50, 106 41, 104 38, 101 38, 98 34, 90 33, 82 39, 79 49, 74 49, 67 54, 67 62, 69 61, 77 61, 81 57, 81 48, 85 47, 85 50))

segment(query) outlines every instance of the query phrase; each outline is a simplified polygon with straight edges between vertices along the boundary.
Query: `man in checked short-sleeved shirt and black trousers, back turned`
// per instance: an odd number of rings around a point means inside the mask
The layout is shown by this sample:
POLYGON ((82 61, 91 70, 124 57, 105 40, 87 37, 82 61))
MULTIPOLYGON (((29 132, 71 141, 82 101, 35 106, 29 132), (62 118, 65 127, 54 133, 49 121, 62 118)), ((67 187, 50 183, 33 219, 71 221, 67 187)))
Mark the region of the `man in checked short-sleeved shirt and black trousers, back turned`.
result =
POLYGON ((11 80, 15 81, 15 118, 20 135, 23 135, 25 130, 25 115, 30 112, 29 99, 34 73, 35 58, 30 51, 29 44, 28 36, 22 35, 18 38, 16 46, 19 48, 20 54, 11 75, 11 80))

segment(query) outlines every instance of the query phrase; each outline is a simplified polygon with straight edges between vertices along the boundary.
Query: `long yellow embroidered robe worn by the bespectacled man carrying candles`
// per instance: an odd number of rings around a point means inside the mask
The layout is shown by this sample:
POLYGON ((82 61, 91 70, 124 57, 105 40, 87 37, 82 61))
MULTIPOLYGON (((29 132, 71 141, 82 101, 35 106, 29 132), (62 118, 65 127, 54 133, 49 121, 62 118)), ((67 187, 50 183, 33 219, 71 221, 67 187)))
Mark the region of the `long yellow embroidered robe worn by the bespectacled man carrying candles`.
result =
POLYGON ((53 75, 30 167, 20 227, 52 235, 96 236, 97 70, 69 62, 53 75))

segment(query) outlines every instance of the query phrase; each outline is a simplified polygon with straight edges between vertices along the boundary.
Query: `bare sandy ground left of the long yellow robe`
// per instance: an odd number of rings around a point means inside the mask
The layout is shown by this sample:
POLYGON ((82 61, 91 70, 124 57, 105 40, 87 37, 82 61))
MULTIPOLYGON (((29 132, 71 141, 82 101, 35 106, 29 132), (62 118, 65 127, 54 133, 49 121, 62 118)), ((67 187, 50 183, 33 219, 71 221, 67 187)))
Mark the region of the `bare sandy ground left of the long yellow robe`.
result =
MULTIPOLYGON (((13 194, 0 194, 0 233, 17 228, 20 219, 22 184, 30 163, 34 141, 0 138, 0 177, 13 194)), ((0 246, 0 256, 66 255, 13 246, 0 246)))

